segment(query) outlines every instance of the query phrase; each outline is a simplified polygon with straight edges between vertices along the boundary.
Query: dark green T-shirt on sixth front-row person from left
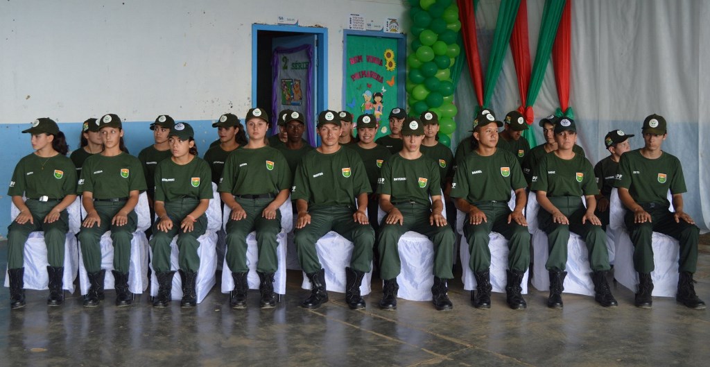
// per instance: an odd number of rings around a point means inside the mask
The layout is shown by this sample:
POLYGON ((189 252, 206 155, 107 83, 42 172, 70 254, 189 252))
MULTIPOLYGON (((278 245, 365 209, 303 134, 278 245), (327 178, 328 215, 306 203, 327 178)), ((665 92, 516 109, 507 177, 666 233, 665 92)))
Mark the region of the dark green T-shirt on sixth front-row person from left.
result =
POLYGON ((439 165, 423 154, 417 159, 393 154, 382 165, 377 184, 377 193, 391 195, 395 205, 407 201, 431 205, 430 196, 442 195, 439 165))

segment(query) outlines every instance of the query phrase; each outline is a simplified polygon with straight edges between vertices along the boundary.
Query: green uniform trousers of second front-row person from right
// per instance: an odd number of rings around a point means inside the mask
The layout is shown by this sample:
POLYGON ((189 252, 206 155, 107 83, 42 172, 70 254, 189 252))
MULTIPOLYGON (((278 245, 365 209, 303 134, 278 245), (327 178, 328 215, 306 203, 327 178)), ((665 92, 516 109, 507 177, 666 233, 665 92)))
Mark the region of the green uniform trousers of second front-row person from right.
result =
POLYGON ((540 229, 547 234, 547 246, 550 251, 550 258, 547 258, 545 268, 547 270, 564 271, 567 265, 567 242, 569 241, 569 231, 579 234, 586 249, 589 251, 589 266, 591 270, 609 270, 609 254, 606 251, 606 233, 601 226, 595 226, 589 221, 581 224, 581 218, 586 213, 586 207, 582 204, 581 197, 561 196, 549 197, 557 209, 569 220, 569 225, 552 222, 552 214, 542 209, 537 212, 537 222, 540 229))

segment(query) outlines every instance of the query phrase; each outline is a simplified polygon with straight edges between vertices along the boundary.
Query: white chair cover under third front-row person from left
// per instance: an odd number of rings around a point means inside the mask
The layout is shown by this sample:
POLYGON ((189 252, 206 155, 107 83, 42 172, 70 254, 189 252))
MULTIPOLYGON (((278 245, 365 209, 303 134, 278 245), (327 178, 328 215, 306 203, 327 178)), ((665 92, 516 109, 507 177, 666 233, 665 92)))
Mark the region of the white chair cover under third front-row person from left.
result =
MULTIPOLYGON (((217 231, 222 226, 222 209, 219 206, 219 192, 217 184, 212 182, 212 200, 209 200, 207 212, 207 230, 202 236, 197 237, 200 247, 197 248, 197 256, 200 258, 200 268, 197 269, 197 279, 195 280, 195 292, 197 293, 197 303, 202 302, 207 297, 209 290, 212 290, 217 283, 214 273, 217 271, 217 231)), ((178 236, 173 237, 170 242, 170 270, 175 272, 180 269, 178 256, 178 236)), ((153 258, 153 249, 148 248, 153 258)), ((151 262, 151 297, 158 295, 158 277, 155 275, 153 263, 151 262)), ((182 300, 182 279, 178 273, 173 278, 173 290, 170 295, 173 300, 182 300)))

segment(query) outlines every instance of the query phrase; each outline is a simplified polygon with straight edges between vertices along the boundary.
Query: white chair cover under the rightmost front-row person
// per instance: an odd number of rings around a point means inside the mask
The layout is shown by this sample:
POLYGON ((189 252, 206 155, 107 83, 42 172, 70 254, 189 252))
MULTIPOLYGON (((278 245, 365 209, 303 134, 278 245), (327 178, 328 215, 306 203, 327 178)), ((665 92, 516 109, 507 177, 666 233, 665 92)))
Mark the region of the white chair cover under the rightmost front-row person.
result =
MULTIPOLYGON (((670 192, 668 199, 671 201, 670 192)), ((633 243, 628 236, 623 217, 626 209, 623 208, 618 198, 616 188, 611 190, 609 212, 609 228, 616 240, 616 263, 614 264, 614 278, 624 287, 636 292, 638 287, 638 273, 633 267, 633 243)), ((673 210, 673 207, 670 208, 673 210)), ((651 272, 653 291, 656 297, 675 297, 678 287, 678 261, 680 247, 678 241, 671 236, 653 232, 651 237, 653 248, 653 263, 655 269, 651 272)))

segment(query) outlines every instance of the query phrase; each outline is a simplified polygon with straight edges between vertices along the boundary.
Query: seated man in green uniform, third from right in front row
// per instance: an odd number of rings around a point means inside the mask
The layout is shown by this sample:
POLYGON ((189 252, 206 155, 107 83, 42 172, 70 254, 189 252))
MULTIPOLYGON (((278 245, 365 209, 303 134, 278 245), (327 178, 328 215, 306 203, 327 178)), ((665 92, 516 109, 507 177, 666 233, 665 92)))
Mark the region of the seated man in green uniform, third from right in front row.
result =
POLYGON ((466 213, 464 235, 469 243, 469 267, 476 277, 471 302, 476 308, 491 308, 491 231, 508 240, 508 283, 506 300, 513 310, 528 307, 520 292, 523 276, 530 264, 530 233, 523 215, 528 196, 525 178, 515 155, 496 148, 501 121, 488 119, 474 126, 478 148, 459 163, 451 195, 456 206, 466 213), (515 192, 515 209, 508 207, 510 191, 515 192))

